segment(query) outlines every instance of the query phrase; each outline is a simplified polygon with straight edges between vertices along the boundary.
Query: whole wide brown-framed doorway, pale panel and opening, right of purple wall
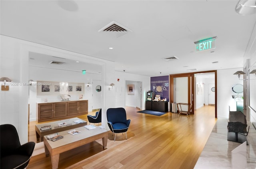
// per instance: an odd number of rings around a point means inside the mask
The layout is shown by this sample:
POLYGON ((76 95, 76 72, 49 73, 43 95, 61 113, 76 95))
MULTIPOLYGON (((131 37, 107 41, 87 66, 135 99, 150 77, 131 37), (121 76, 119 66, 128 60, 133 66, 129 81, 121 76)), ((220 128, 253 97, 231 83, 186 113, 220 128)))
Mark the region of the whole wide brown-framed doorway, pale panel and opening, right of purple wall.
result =
MULTIPOLYGON (((180 80, 178 80, 180 81, 180 80)), ((215 118, 217 118, 217 71, 206 71, 206 72, 194 72, 189 74, 173 74, 170 75, 170 102, 184 102, 184 103, 192 103, 192 109, 190 114, 194 114, 194 109, 197 107, 208 105, 209 97, 208 97, 208 84, 214 84, 211 87, 214 91, 211 91, 210 103, 215 105, 215 118), (198 76, 206 76, 212 75, 212 80, 207 82, 203 82, 202 80, 198 80, 198 76), (181 79, 185 77, 185 81, 181 81, 180 84, 177 84, 177 79, 181 79), (182 86, 182 89, 177 88, 177 86, 182 86), (185 86, 184 86, 185 85, 185 86), (205 89, 207 87, 207 90, 205 89), (186 90, 186 94, 182 91, 186 90), (205 94, 203 94, 205 93, 205 94), (206 95, 207 93, 207 95, 206 95), (198 97, 201 96, 201 97, 198 97), (213 97, 214 96, 214 97, 213 97), (182 98, 183 100, 180 100, 182 98), (202 99, 202 101, 200 101, 202 99), (200 105, 198 105, 200 103, 200 105)))

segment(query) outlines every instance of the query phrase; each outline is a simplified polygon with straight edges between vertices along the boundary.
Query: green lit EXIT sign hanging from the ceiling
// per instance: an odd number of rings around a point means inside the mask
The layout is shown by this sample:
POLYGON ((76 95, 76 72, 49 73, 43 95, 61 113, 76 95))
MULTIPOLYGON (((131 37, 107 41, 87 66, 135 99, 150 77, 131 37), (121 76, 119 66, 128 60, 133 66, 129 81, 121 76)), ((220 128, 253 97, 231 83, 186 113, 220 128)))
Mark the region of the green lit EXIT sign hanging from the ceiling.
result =
POLYGON ((196 52, 214 49, 215 48, 215 38, 217 36, 214 36, 212 38, 207 38, 204 40, 199 40, 197 42, 194 42, 196 44, 196 52))

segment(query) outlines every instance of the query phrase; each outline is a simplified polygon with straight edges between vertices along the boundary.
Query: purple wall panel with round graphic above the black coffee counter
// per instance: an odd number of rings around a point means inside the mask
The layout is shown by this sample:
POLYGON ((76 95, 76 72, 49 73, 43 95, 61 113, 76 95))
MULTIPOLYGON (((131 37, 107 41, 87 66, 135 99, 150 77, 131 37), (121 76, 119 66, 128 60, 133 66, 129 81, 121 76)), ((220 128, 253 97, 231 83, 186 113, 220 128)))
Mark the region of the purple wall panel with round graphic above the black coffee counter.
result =
POLYGON ((150 90, 160 95, 161 99, 169 101, 169 76, 151 77, 150 90))

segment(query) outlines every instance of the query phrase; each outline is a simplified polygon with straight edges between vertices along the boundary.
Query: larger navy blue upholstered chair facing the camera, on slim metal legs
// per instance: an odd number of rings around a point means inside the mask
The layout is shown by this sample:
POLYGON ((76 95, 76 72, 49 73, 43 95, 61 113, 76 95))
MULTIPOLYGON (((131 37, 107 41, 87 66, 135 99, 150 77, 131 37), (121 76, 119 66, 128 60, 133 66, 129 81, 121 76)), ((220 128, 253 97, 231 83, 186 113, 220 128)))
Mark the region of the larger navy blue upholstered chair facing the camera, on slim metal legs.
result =
POLYGON ((130 127, 130 119, 126 119, 126 111, 124 108, 109 108, 107 110, 108 127, 115 133, 114 141, 116 141, 116 133, 124 133, 127 139, 127 130, 130 127))

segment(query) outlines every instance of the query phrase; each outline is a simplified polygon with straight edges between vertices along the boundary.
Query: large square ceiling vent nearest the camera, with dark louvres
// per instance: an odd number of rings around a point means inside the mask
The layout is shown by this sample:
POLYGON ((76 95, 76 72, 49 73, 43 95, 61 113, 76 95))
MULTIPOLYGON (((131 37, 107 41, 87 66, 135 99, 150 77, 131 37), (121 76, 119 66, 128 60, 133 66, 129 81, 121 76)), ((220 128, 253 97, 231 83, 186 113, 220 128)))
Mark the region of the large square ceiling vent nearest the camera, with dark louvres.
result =
POLYGON ((123 36, 124 34, 127 34, 128 32, 132 32, 132 30, 126 28, 125 26, 119 24, 116 21, 112 21, 100 30, 98 32, 109 32, 111 34, 114 34, 116 38, 123 36))

